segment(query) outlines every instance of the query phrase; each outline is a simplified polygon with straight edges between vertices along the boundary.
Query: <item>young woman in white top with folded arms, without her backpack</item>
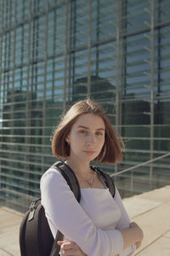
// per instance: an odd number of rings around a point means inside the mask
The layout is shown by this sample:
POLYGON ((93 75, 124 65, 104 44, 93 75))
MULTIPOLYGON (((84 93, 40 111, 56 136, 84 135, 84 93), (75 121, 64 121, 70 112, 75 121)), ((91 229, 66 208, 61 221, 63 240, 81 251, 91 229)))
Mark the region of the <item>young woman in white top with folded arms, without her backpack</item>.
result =
POLYGON ((65 178, 52 167, 42 175, 42 206, 59 241, 61 255, 127 256, 143 240, 138 224, 130 223, 116 189, 113 198, 90 162, 115 164, 122 160, 121 146, 105 112, 96 102, 77 102, 54 131, 53 154, 65 159, 81 187, 77 202, 65 178))

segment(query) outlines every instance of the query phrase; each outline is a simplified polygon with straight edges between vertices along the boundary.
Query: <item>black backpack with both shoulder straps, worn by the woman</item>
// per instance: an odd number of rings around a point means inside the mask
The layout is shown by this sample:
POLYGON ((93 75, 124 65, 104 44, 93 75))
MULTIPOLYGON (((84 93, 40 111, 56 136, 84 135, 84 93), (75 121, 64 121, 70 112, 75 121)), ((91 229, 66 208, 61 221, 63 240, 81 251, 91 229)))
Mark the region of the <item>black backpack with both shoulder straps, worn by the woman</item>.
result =
MULTIPOLYGON (((53 166, 65 177, 77 201, 81 200, 80 186, 76 175, 65 163, 58 161, 53 166)), ((91 166, 95 172, 98 172, 109 188, 111 195, 115 196, 115 185, 111 177, 99 170, 99 167, 91 166)), ((48 220, 45 216, 44 208, 41 205, 41 198, 31 202, 28 212, 20 224, 20 255, 21 256, 58 256, 60 247, 57 241, 62 241, 63 235, 58 230, 54 239, 48 226, 48 220)))

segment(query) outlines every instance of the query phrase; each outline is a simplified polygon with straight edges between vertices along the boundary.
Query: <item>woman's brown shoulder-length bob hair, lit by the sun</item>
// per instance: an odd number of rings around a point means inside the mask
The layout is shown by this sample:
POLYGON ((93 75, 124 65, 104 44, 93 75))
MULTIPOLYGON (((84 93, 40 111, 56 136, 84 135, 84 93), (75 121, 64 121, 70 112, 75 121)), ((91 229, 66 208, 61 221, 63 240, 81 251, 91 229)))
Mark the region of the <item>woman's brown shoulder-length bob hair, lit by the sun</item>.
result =
POLYGON ((72 125, 74 125, 78 117, 83 113, 96 114, 105 122, 105 143, 94 161, 115 164, 117 160, 122 160, 123 143, 121 137, 119 137, 119 139, 122 143, 122 147, 104 110, 97 102, 90 99, 75 103, 62 117, 59 125, 54 131, 52 138, 52 151, 54 156, 57 158, 66 159, 70 155, 70 146, 65 139, 69 135, 72 125))

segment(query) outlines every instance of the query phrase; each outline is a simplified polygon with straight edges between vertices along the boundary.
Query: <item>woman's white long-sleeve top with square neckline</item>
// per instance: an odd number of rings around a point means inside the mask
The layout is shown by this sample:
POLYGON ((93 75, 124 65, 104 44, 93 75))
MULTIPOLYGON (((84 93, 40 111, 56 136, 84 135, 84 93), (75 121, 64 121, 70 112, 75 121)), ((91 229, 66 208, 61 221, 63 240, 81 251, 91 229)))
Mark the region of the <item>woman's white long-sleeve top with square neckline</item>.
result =
POLYGON ((130 220, 117 189, 114 199, 109 189, 81 189, 79 204, 65 178, 53 167, 42 175, 40 188, 54 237, 60 230, 65 239, 75 241, 88 256, 133 253, 135 245, 123 251, 119 230, 128 228, 130 220))

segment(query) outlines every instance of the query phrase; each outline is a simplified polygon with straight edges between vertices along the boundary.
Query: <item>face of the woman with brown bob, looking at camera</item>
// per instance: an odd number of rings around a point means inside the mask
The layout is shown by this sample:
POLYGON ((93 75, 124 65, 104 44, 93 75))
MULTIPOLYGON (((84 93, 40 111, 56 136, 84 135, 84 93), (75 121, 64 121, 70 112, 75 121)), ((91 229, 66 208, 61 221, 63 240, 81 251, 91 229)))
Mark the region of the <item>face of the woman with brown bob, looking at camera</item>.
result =
POLYGON ((82 161, 94 160, 105 143, 104 120, 92 113, 82 114, 72 125, 66 142, 71 148, 69 158, 82 161))

